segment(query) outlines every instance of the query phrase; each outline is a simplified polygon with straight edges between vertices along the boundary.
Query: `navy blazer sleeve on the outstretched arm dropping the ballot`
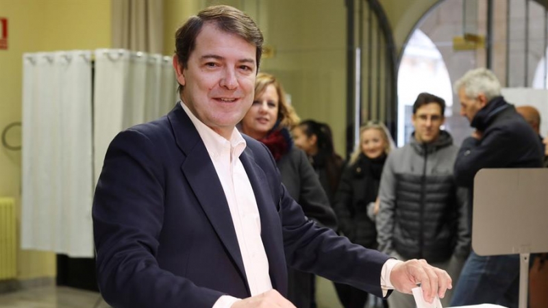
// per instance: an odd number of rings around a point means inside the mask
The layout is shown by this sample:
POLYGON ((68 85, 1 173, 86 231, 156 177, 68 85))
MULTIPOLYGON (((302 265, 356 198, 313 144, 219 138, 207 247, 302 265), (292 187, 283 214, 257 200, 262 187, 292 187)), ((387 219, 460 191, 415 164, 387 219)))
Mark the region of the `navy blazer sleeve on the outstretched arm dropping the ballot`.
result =
MULTIPOLYGON (((264 146, 264 150, 266 146, 264 146)), ((260 159, 267 179, 277 175, 274 158, 260 159)), ((263 157, 264 155, 258 155, 263 157)), ((363 246, 352 244, 332 229, 321 227, 306 218, 302 207, 291 198, 282 183, 271 182, 279 205, 282 238, 286 263, 303 272, 312 272, 338 283, 346 283, 383 297, 381 288, 382 267, 390 257, 363 246)))

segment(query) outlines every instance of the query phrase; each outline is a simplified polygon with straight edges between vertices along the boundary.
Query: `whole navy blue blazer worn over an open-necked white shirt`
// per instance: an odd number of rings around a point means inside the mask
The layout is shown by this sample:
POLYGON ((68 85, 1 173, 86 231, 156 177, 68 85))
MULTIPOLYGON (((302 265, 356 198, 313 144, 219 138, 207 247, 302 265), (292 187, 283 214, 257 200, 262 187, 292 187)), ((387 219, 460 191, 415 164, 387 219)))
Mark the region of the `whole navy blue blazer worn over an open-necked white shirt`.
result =
MULTIPOLYGON (((308 220, 269 150, 244 138, 273 287, 286 295, 287 264, 382 296, 388 256, 308 220)), ((179 104, 112 140, 92 216, 99 289, 113 307, 210 308, 223 294, 251 295, 221 182, 179 104)))

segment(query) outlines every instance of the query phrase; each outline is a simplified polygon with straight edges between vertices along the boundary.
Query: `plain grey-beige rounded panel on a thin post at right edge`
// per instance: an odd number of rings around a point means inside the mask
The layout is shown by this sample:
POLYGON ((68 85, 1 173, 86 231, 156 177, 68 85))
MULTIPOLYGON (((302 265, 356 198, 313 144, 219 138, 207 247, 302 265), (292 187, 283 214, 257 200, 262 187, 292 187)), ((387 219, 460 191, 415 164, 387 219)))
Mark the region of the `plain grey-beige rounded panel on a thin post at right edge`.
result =
POLYGON ((527 308, 530 254, 548 252, 547 235, 548 168, 477 172, 472 247, 478 255, 520 255, 520 308, 527 308))

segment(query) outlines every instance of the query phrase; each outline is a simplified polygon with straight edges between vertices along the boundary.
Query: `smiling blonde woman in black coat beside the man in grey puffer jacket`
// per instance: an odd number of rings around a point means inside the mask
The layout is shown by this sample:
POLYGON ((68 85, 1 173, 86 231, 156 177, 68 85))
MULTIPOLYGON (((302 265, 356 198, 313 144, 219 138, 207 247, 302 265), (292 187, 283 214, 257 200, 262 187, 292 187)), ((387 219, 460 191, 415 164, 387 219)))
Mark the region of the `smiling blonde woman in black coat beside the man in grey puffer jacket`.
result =
MULTIPOLYGON (((354 244, 377 249, 377 194, 384 162, 393 148, 394 142, 382 123, 371 121, 360 128, 360 143, 343 172, 334 202, 339 229, 354 244)), ((345 308, 362 308, 369 296, 342 283, 335 283, 335 289, 345 308)))

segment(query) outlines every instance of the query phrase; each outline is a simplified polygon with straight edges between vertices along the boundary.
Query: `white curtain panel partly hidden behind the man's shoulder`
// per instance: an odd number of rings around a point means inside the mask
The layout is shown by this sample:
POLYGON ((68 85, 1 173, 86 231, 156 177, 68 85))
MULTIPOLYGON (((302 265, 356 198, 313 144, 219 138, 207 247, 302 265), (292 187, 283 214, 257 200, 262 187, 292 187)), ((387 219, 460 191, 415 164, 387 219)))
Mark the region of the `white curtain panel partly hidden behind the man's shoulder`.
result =
POLYGON ((95 183, 116 133, 166 114, 177 101, 171 57, 123 49, 95 51, 95 183))

